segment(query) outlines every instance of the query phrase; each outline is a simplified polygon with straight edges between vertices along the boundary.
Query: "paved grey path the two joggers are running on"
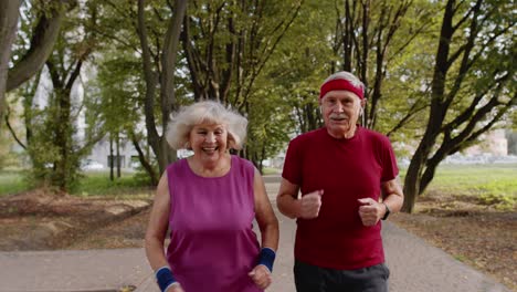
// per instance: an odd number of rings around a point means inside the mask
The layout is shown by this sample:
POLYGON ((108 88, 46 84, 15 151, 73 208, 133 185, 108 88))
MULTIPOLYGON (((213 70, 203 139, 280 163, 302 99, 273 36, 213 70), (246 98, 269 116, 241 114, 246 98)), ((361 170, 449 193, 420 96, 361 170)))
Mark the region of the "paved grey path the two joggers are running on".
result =
MULTIPOLYGON (((277 180, 265 181, 274 199, 277 180)), ((281 242, 274 283, 267 292, 294 292, 296 226, 294 220, 277 216, 281 242)), ((383 226, 383 240, 391 292, 509 292, 392 223, 383 226)), ((158 291, 143 249, 0 252, 0 292, 115 292, 123 286, 134 286, 136 292, 158 291)))

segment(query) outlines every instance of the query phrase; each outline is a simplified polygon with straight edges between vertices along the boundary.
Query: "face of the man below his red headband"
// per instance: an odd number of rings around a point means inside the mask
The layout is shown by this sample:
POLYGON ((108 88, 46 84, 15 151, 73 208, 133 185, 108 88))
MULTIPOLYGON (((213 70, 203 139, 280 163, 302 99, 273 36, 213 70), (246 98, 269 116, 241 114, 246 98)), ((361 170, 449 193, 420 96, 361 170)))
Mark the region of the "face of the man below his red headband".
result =
POLYGON ((330 91, 325 94, 320 104, 325 126, 330 136, 345 138, 347 134, 354 135, 354 125, 357 124, 365 100, 349 91, 330 91))

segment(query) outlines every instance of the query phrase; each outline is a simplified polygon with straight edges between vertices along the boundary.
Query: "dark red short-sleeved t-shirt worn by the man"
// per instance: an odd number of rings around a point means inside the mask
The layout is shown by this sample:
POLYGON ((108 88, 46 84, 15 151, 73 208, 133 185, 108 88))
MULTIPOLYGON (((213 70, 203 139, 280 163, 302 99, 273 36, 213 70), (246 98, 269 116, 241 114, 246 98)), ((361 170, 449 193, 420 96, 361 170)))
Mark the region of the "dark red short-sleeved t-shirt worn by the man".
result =
POLYGON ((282 177, 303 195, 324 190, 318 217, 297 219, 295 258, 337 270, 384 262, 381 223, 362 225, 358 199, 378 200, 381 182, 398 174, 388 137, 363 127, 350 139, 336 139, 325 127, 294 138, 282 177))

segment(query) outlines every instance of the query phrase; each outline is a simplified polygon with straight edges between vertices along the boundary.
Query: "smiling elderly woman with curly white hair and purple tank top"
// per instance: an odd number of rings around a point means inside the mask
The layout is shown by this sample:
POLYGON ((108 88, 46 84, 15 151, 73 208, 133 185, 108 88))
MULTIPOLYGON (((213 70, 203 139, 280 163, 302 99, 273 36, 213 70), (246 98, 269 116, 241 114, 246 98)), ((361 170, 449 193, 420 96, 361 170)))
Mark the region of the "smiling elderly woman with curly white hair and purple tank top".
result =
POLYGON ((147 259, 161 291, 254 292, 271 284, 278 221, 258 170, 229 153, 242 147, 246 125, 217 102, 196 103, 172 118, 167 140, 193 155, 167 167, 147 228, 147 259))

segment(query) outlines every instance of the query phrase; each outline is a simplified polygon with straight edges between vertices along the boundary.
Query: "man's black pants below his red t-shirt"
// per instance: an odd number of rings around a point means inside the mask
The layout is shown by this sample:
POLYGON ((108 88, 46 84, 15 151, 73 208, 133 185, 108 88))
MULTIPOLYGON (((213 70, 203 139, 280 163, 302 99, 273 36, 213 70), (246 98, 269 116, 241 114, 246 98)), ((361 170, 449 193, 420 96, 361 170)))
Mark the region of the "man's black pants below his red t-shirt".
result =
POLYGON ((334 270, 295 261, 297 292, 388 292, 384 263, 358 270, 334 270))

